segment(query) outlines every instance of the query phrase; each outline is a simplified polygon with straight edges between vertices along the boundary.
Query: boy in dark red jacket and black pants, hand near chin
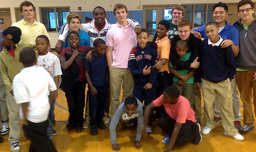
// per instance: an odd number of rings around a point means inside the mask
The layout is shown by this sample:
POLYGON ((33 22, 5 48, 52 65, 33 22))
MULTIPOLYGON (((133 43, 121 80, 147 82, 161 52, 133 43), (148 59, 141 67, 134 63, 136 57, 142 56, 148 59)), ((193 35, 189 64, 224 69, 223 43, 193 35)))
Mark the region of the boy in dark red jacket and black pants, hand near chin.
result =
MULTIPOLYGON (((67 98, 67 104, 69 107, 69 125, 67 125, 67 130, 72 130, 76 128, 79 133, 83 130, 84 122, 84 108, 85 108, 85 56, 90 50, 88 46, 78 46, 80 43, 79 35, 77 32, 72 31, 68 35, 68 43, 70 43, 70 48, 64 48, 61 53, 61 63, 63 70, 67 70, 70 73, 70 77, 74 78, 75 67, 79 66, 80 73, 79 79, 72 82, 62 81, 62 86, 70 86, 65 90, 65 96, 67 98), (69 56, 67 59, 65 56, 69 56), (75 62, 76 66, 71 66, 75 62), (70 67, 71 66, 71 67, 70 67), (68 69, 68 68, 71 69, 68 69)), ((62 72, 64 75, 64 72, 62 72)))

